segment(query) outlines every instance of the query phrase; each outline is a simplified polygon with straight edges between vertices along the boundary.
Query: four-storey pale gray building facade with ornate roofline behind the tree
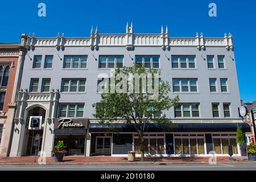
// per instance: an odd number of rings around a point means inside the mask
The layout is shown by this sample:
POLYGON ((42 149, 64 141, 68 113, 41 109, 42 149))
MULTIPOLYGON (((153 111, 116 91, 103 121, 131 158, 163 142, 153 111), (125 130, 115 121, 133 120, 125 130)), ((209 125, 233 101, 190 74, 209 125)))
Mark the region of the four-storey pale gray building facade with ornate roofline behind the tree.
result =
POLYGON ((164 111, 177 127, 166 132, 152 125, 146 133, 147 155, 228 155, 229 144, 240 155, 234 140, 237 126, 244 131, 250 127, 238 114, 231 34, 171 38, 167 28, 160 34, 134 34, 133 25, 127 24, 125 34, 99 34, 92 28, 89 38, 23 34, 21 46, 26 49, 10 156, 40 150, 51 156, 57 140, 64 140, 68 155, 138 153, 137 133, 126 123, 115 125, 119 134, 108 133, 108 126, 93 117, 92 104, 101 100, 97 88, 102 73, 110 76, 118 65, 141 62, 159 69, 161 79, 172 85, 170 96, 180 97, 177 107, 164 111), (81 127, 62 127, 61 122, 81 127))

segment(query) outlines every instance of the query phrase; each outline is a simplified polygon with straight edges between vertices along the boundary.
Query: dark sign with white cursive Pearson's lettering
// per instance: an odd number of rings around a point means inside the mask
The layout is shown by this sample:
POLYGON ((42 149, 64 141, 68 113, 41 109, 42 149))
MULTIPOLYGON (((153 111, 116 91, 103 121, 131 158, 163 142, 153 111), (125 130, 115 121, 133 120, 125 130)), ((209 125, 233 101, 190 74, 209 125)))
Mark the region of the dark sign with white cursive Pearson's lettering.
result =
POLYGON ((88 119, 59 118, 55 119, 55 129, 87 129, 88 119))

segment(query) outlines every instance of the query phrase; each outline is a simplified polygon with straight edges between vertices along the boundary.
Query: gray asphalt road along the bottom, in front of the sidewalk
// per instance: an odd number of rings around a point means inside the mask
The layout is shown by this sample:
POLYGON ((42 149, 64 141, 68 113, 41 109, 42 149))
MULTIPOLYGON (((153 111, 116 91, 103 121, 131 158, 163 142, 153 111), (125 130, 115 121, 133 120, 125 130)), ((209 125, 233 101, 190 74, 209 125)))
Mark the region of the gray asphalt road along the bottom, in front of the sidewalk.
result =
POLYGON ((255 163, 0 165, 0 171, 256 171, 255 163))

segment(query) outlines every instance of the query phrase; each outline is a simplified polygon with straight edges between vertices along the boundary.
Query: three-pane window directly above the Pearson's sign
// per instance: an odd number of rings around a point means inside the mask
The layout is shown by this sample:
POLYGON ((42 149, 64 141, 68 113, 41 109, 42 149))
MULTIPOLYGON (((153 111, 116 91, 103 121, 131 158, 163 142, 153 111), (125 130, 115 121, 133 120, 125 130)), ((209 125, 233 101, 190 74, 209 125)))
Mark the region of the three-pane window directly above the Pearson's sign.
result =
POLYGON ((84 117, 84 104, 60 104, 60 117, 84 117))

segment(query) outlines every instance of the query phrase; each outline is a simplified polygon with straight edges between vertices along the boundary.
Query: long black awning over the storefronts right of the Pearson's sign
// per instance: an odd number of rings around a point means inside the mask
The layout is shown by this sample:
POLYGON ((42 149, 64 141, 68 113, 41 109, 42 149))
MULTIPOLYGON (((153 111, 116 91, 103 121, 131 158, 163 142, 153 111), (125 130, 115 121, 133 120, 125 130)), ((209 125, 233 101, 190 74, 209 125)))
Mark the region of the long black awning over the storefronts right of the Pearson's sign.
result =
MULTIPOLYGON (((147 132, 236 132, 242 126, 243 132, 250 132, 246 123, 172 123, 170 126, 150 123, 147 132)), ((89 132, 135 132, 129 123, 90 123, 89 132)))

